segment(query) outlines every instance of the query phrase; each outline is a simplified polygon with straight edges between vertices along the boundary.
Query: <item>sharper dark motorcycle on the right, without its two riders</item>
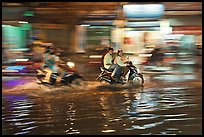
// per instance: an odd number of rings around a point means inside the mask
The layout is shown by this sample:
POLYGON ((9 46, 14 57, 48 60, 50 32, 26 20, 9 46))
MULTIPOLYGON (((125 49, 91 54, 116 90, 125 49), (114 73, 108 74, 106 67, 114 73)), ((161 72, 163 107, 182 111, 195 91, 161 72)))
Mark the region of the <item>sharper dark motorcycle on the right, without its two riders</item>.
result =
POLYGON ((104 67, 100 67, 101 73, 96 78, 96 80, 100 81, 100 82, 107 82, 109 84, 115 84, 115 83, 125 84, 125 83, 130 83, 130 84, 143 85, 144 84, 144 78, 143 78, 143 75, 141 73, 139 73, 139 69, 136 66, 134 66, 131 61, 126 62, 126 63, 127 63, 127 67, 130 70, 128 80, 122 81, 122 82, 116 82, 111 77, 112 71, 110 71, 110 70, 108 70, 108 69, 106 69, 104 67))

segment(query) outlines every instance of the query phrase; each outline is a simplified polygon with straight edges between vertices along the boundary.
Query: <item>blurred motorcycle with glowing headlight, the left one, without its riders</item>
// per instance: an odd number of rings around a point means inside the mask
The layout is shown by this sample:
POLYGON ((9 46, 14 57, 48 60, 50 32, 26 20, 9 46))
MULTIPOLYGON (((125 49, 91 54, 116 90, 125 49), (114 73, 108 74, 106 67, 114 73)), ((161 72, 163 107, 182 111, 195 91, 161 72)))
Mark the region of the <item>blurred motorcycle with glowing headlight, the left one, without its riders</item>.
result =
MULTIPOLYGON (((73 62, 67 62, 67 64, 62 63, 59 65, 64 71, 64 75, 61 78, 60 82, 58 83, 58 85, 69 85, 72 87, 82 87, 85 86, 85 80, 84 78, 77 73, 77 71, 74 68, 74 63, 73 62)), ((51 77, 50 77, 50 82, 43 82, 44 77, 46 76, 46 71, 44 71, 42 68, 39 68, 37 70, 37 76, 36 76, 36 81, 38 84, 43 84, 43 85, 52 85, 55 86, 57 85, 56 79, 59 76, 58 73, 52 73, 51 77)))

